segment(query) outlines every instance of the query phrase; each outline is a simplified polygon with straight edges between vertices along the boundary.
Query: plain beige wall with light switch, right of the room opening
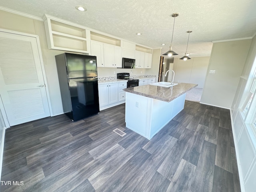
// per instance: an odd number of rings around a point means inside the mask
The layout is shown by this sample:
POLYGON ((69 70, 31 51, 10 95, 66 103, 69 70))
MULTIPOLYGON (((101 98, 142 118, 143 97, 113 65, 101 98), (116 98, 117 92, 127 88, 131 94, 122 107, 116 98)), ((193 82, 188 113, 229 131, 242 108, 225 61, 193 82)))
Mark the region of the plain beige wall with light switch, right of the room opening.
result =
POLYGON ((213 44, 201 103, 231 108, 251 41, 213 44), (209 74, 210 70, 215 70, 215 74, 209 74))

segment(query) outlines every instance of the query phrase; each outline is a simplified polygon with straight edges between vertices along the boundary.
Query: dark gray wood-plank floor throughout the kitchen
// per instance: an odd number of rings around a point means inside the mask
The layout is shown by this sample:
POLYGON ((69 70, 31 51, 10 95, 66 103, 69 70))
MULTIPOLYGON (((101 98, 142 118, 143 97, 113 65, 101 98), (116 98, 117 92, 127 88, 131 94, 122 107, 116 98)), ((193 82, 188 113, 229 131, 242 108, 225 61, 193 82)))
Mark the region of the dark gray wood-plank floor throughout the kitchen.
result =
POLYGON ((240 191, 229 110, 189 101, 151 140, 125 127, 124 104, 8 128, 1 181, 2 192, 240 191))

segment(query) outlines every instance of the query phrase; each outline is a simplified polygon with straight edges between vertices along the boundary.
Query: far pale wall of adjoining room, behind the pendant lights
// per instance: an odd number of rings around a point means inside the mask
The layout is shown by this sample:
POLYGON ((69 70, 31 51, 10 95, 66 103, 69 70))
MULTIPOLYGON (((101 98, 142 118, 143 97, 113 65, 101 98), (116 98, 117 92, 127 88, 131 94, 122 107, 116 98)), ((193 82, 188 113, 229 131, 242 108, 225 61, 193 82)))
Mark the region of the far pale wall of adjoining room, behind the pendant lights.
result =
POLYGON ((174 58, 175 82, 198 84, 198 88, 204 88, 209 59, 210 57, 191 57, 184 61, 174 58))

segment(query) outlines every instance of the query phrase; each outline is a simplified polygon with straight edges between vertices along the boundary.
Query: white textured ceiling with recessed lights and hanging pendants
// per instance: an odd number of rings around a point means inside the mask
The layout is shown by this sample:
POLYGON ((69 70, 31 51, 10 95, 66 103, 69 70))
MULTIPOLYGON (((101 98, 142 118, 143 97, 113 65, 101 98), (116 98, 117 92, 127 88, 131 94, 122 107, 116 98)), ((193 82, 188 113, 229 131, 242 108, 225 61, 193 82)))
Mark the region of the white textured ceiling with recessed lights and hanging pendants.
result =
POLYGON ((256 0, 1 0, 0 6, 42 18, 74 22, 138 44, 173 50, 182 57, 210 56, 212 41, 248 38, 256 33, 256 0), (84 5, 79 12, 76 5, 84 5), (140 32, 142 35, 137 36, 140 32), (161 44, 165 43, 165 46, 161 44))

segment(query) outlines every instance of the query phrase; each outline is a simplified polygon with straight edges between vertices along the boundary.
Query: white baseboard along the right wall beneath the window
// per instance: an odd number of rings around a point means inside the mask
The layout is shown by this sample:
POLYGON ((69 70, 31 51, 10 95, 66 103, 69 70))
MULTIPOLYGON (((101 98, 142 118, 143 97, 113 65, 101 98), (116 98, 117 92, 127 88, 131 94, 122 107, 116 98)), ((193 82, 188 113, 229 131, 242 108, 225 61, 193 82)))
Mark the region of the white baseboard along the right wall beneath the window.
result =
POLYGON ((237 162, 237 167, 238 167, 240 187, 241 187, 241 192, 245 192, 244 177, 243 177, 241 162, 240 162, 240 158, 239 158, 237 139, 236 139, 236 135, 234 134, 235 133, 234 132, 234 122, 233 122, 233 116, 232 116, 232 111, 231 110, 230 110, 230 117, 231 117, 232 135, 233 135, 235 151, 236 151, 236 162, 237 162))

